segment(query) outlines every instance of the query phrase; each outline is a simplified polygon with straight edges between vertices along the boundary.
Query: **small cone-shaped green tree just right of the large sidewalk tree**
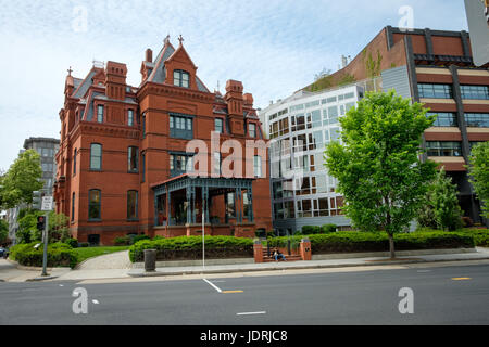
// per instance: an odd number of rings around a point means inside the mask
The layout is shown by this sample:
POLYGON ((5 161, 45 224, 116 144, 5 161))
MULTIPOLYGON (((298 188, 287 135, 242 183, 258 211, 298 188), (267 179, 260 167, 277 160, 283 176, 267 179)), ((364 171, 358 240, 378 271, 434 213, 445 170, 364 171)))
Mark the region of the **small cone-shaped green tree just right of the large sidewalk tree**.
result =
POLYGON ((432 227, 435 222, 436 228, 441 230, 453 231, 462 228, 462 209, 456 195, 456 185, 442 168, 430 184, 425 204, 419 210, 418 216, 431 215, 429 223, 425 221, 423 224, 423 220, 421 221, 422 227, 432 227))

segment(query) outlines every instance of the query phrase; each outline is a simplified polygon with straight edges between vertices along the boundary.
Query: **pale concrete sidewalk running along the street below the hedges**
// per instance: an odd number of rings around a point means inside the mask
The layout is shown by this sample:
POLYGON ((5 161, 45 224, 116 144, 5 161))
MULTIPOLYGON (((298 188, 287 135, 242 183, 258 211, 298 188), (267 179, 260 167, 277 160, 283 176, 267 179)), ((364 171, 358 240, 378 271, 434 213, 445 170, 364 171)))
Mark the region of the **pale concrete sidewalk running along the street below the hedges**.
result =
MULTIPOLYGON (((348 267, 365 267, 365 266, 392 266, 409 264, 428 264, 441 261, 467 261, 467 260, 489 260, 489 248, 477 247, 472 252, 467 249, 460 250, 464 253, 451 254, 431 254, 426 255, 424 252, 410 252, 410 255, 399 252, 399 258, 396 260, 388 259, 385 254, 381 256, 355 257, 355 258, 337 258, 340 255, 331 255, 335 259, 311 260, 311 261, 279 261, 264 264, 235 264, 235 265, 212 265, 205 266, 186 266, 186 267, 165 267, 156 268, 155 272, 145 272, 142 268, 133 269, 76 269, 66 268, 48 269, 50 278, 40 278, 40 269, 22 270, 15 268, 12 264, 0 271, 1 279, 7 282, 25 282, 25 281, 83 281, 83 280, 105 280, 105 279, 130 279, 146 277, 172 277, 184 274, 218 274, 218 273, 243 273, 258 271, 277 271, 277 270, 302 270, 302 269, 330 269, 330 268, 348 268, 348 267), (468 252, 468 253, 467 253, 468 252)), ((346 255, 352 256, 352 255, 346 255)), ((5 260, 3 260, 5 261, 5 260)))

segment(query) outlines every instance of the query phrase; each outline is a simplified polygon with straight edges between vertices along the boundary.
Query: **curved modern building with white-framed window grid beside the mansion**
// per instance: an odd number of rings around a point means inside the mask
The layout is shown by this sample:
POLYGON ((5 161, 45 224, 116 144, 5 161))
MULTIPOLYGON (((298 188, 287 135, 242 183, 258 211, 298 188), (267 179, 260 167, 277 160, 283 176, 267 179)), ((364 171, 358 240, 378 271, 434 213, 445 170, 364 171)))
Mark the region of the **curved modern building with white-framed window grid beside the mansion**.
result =
POLYGON ((271 193, 275 233, 333 223, 349 229, 343 198, 324 165, 324 152, 340 141, 339 118, 366 90, 381 90, 381 78, 319 92, 300 90, 260 112, 271 139, 271 193))

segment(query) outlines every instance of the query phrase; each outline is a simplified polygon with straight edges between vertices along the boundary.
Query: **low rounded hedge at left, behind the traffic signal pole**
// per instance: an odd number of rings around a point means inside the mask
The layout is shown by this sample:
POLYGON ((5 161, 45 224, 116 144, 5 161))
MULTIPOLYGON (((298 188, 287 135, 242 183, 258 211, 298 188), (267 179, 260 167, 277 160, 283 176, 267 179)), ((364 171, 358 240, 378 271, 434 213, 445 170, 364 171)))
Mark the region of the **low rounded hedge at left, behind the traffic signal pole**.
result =
MULTIPOLYGON (((43 245, 36 249, 39 242, 15 245, 10 248, 9 257, 20 265, 27 267, 42 267, 43 245)), ((53 243, 48 245, 48 267, 70 267, 74 268, 77 257, 73 248, 64 243, 53 243)))

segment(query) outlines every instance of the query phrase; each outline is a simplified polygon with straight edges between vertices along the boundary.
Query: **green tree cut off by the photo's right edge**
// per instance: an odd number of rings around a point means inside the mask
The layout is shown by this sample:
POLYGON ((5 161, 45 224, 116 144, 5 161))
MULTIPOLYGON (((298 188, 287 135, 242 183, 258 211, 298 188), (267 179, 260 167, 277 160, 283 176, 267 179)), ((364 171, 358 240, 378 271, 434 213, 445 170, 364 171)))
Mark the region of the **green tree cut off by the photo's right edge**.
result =
POLYGON ((489 142, 472 149, 469 166, 471 183, 482 204, 482 216, 489 218, 489 142))

